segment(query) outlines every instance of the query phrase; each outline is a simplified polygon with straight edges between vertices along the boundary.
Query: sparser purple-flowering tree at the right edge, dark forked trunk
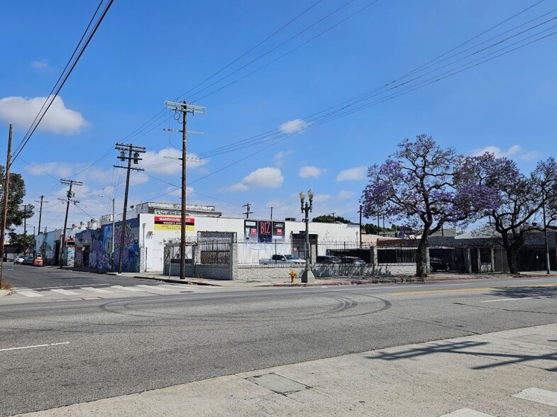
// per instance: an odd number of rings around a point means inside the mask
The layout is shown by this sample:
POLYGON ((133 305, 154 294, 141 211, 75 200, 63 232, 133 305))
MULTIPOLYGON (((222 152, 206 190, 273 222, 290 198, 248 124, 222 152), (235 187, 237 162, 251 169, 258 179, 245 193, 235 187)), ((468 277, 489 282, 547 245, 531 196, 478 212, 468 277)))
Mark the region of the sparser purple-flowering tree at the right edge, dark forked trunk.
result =
POLYGON ((529 176, 519 172, 514 161, 490 153, 467 157, 461 169, 462 181, 496 190, 499 204, 486 211, 492 226, 482 235, 492 235, 485 243, 500 245, 507 255, 509 272, 518 274, 517 252, 532 232, 544 230, 556 221, 557 164, 553 158, 540 161, 529 176), (489 230, 490 233, 485 233, 489 230))

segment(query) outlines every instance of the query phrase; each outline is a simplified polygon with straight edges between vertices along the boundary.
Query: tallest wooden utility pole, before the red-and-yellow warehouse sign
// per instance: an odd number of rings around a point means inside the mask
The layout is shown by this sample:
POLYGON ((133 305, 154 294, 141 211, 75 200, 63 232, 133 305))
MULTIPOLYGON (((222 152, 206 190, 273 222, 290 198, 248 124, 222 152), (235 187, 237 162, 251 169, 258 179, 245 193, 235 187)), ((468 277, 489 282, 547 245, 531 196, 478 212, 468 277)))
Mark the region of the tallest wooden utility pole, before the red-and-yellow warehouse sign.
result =
MULTIPOLYGON (((187 160, 187 113, 205 113, 205 108, 187 104, 184 100, 182 103, 175 101, 165 101, 167 109, 175 111, 175 114, 182 117, 182 210, 180 211, 180 279, 186 279, 186 160, 187 160)), ((178 118, 180 120, 180 117, 178 118)), ((170 266, 169 265, 169 273, 170 266)))

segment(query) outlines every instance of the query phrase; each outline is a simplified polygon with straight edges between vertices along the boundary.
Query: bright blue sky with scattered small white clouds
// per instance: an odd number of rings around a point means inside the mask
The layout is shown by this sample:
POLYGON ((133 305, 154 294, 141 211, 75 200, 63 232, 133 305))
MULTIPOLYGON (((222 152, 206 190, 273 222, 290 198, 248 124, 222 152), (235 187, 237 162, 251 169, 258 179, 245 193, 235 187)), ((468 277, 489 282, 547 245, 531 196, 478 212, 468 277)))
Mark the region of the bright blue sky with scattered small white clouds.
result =
MULTIPOLYGON (((16 148, 97 5, 0 6, 1 164, 9 123, 16 148)), ((116 0, 11 167, 26 181, 24 203, 37 207, 28 224, 38 225, 44 195, 42 228, 63 226, 62 178, 83 182, 70 224, 109 213, 113 196, 121 213, 116 142, 148 150, 128 205, 179 203, 180 161, 163 156, 180 156, 181 136, 162 130, 180 128, 165 110, 178 98, 206 107, 188 118, 188 130, 204 133, 188 136, 197 158, 188 162, 188 204, 225 216, 242 217, 250 203, 252 218, 269 218, 271 207, 275 219, 302 218, 298 194, 312 188, 313 216, 357 222, 366 167, 419 133, 465 155, 511 157, 529 172, 556 154, 556 17, 554 0, 116 0)))

